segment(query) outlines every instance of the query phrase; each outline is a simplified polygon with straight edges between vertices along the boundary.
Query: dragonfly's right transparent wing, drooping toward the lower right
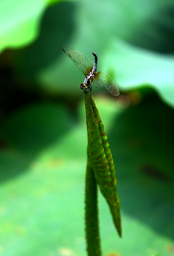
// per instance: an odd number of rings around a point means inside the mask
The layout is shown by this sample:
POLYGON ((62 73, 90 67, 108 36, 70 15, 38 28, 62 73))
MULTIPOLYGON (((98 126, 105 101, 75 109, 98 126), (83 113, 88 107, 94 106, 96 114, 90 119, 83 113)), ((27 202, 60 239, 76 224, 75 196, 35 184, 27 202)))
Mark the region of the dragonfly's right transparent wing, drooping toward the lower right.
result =
POLYGON ((114 96, 118 96, 120 94, 119 89, 115 82, 113 81, 112 77, 109 76, 107 73, 104 71, 99 71, 95 76, 94 76, 96 81, 93 81, 94 86, 99 87, 98 84, 102 84, 108 92, 110 92, 114 96))

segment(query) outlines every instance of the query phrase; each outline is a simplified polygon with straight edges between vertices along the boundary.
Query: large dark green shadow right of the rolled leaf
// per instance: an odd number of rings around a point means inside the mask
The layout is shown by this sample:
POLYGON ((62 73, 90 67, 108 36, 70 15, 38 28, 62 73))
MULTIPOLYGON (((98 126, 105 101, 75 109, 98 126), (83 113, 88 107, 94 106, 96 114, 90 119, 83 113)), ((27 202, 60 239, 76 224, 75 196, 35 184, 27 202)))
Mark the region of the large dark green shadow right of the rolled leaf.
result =
POLYGON ((174 110, 151 93, 123 110, 108 134, 121 209, 172 239, 173 117, 174 110))

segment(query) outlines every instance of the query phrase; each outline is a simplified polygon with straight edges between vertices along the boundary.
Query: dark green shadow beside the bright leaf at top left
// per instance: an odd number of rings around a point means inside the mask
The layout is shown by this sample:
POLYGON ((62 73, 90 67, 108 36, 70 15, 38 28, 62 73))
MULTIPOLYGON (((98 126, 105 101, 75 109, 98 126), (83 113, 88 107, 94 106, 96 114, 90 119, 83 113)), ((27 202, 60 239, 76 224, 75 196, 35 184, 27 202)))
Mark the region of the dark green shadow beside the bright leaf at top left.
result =
POLYGON ((59 2, 49 7, 40 24, 38 39, 17 53, 18 75, 31 86, 36 74, 42 69, 54 63, 62 54, 62 44, 69 42, 74 34, 74 11, 76 3, 59 2))

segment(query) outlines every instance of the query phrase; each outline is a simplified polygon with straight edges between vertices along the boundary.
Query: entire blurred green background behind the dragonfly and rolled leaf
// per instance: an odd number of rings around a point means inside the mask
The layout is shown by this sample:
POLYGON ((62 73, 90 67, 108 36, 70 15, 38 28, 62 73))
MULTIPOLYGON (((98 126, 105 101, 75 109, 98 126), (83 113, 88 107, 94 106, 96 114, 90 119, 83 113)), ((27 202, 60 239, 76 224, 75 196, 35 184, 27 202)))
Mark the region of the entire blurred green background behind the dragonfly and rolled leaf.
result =
POLYGON ((123 226, 99 193, 103 255, 173 256, 173 0, 0 1, 0 256, 87 255, 84 77, 63 43, 120 90, 92 91, 123 226))

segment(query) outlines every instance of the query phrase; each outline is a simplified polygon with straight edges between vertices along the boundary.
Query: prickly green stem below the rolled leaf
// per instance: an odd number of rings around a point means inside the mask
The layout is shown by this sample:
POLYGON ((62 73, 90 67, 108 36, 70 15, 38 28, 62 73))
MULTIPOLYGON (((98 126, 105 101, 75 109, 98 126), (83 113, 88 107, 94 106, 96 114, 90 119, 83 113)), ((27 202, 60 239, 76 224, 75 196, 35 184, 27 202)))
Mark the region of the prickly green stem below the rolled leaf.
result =
POLYGON ((101 256, 97 207, 97 182, 89 162, 86 168, 85 226, 88 255, 101 256))

